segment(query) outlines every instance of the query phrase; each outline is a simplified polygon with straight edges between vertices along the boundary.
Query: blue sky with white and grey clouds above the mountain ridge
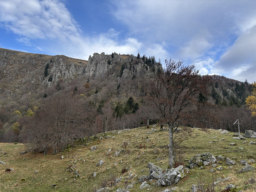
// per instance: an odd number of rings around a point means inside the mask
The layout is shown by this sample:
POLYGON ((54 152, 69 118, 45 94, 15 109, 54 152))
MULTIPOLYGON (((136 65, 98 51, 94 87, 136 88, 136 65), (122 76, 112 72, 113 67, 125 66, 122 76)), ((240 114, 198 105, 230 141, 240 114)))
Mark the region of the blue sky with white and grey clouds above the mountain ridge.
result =
MULTIPOLYGON (((155 56, 256 81, 255 0, 0 0, 0 47, 88 60, 155 56)), ((159 59, 158 59, 159 58, 159 59)))

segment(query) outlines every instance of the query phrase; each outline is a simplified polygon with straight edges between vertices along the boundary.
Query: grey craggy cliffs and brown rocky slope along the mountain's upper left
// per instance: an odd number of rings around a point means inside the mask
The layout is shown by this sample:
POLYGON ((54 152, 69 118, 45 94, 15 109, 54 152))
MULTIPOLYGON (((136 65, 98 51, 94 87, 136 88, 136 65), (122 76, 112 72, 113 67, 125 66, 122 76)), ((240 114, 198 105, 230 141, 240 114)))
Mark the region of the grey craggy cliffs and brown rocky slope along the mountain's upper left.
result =
POLYGON ((102 81, 153 77, 158 69, 163 70, 161 64, 155 64, 154 70, 150 70, 141 59, 117 53, 94 53, 86 61, 64 55, 50 56, 0 48, 0 94, 12 96, 22 94, 24 90, 37 92, 56 85, 60 80, 69 82, 77 77, 102 81), (47 63, 49 68, 45 76, 47 63))

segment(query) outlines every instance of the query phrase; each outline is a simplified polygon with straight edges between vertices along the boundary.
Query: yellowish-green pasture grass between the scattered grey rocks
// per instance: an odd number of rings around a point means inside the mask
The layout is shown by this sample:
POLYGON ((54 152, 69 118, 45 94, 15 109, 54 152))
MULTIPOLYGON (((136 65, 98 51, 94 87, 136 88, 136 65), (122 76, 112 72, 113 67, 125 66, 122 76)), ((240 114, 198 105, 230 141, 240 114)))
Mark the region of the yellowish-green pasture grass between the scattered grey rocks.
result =
MULTIPOLYGON (((123 180, 116 186, 111 187, 111 191, 116 191, 119 187, 125 188, 131 183, 134 184, 134 188, 130 189, 131 192, 135 191, 147 191, 147 189, 139 190, 141 183, 138 182, 138 178, 142 175, 148 175, 149 170, 147 165, 149 162, 160 166, 163 169, 168 167, 168 131, 160 131, 159 127, 156 127, 156 131, 152 134, 147 133, 151 130, 150 128, 142 127, 122 131, 118 134, 113 131, 107 134, 115 138, 110 139, 94 139, 85 143, 76 143, 77 146, 70 148, 57 155, 46 155, 42 153, 28 152, 20 155, 21 151, 27 150, 29 145, 24 144, 9 144, 0 145, 1 156, 0 160, 6 164, 0 165, 0 191, 10 192, 23 192, 23 191, 94 191, 95 189, 101 188, 103 180, 108 180, 110 184, 113 179, 122 177, 123 180), (123 146, 123 143, 127 142, 129 145, 123 146), (88 145, 87 145, 88 143, 88 145), (96 151, 91 151, 91 146, 96 145, 96 151), (141 145, 141 148, 140 148, 141 145), (144 147, 145 146, 145 147, 144 147), (124 150, 118 156, 115 153, 118 150, 124 150), (81 150, 80 150, 81 149, 81 150), (108 150, 111 149, 109 155, 108 150), (77 151, 79 150, 79 151, 77 151), (2 153, 7 152, 7 155, 2 153), (61 159, 61 155, 64 159, 61 159), (68 156, 68 157, 67 157, 68 156), (161 158, 162 157, 162 158, 161 158), (160 160, 157 161, 157 158, 160 160), (81 160, 79 160, 81 159, 81 160), (99 159, 105 163, 102 166, 96 166, 99 159), (83 161, 85 160, 85 162, 83 161), (74 163, 76 161, 76 163, 74 163), (115 165, 117 163, 117 165, 115 165), (79 171, 81 177, 75 178, 75 173, 70 172, 69 166, 75 165, 79 171), (127 172, 122 173, 122 169, 129 168, 127 172), (13 168, 14 171, 5 172, 6 169, 13 168), (35 172, 37 170, 37 172, 35 172), (143 171, 142 171, 143 170, 143 171), (97 175, 94 178, 93 173, 97 175), (135 177, 128 179, 129 175, 133 174, 135 177), (112 178, 112 179, 111 179, 112 178), (52 186, 52 184, 57 184, 52 186)), ((255 145, 248 145, 250 141, 256 141, 256 139, 247 138, 246 140, 232 139, 233 133, 220 134, 218 130, 208 130, 207 132, 199 129, 192 129, 192 137, 178 133, 174 134, 176 142, 180 143, 179 153, 183 157, 182 163, 188 164, 187 160, 193 156, 210 152, 214 156, 223 155, 230 159, 235 160, 238 165, 234 165, 231 168, 226 165, 225 161, 219 161, 219 165, 223 166, 222 171, 216 171, 213 175, 209 171, 210 166, 206 166, 199 170, 198 168, 191 169, 189 174, 182 179, 178 184, 169 187, 155 187, 153 183, 155 181, 149 181, 152 188, 152 192, 162 191, 166 188, 171 189, 177 186, 177 191, 191 191, 192 184, 197 184, 197 179, 202 176, 205 180, 225 178, 231 176, 231 179, 222 183, 222 186, 217 185, 217 189, 226 187, 227 184, 237 185, 242 187, 248 183, 255 171, 247 173, 237 173, 237 171, 243 167, 239 163, 241 159, 255 159, 256 151, 255 145), (216 137, 215 137, 216 136, 216 137), (215 138, 213 138, 215 137, 215 138), (217 142, 213 142, 213 141, 217 142), (247 143, 242 143, 246 141, 247 143), (213 142, 213 143, 209 143, 213 142), (229 146, 229 143, 236 143, 236 146, 229 146), (244 150, 238 149, 243 147, 244 150)), ((99 134, 98 136, 103 136, 99 134)), ((218 166, 219 166, 218 165, 218 166)), ((252 163, 256 166, 255 163, 252 163)), ((253 191, 255 190, 255 184, 249 186, 247 189, 242 191, 253 191)), ((217 190, 216 190, 217 191, 217 190)))

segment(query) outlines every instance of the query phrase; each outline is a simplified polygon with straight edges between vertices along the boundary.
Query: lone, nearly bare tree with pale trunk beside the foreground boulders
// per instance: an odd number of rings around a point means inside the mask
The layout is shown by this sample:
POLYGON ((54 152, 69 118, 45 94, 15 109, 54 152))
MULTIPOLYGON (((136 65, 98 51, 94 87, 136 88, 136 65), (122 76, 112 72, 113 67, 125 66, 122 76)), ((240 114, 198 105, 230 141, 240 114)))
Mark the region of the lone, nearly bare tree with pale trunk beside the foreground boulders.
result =
POLYGON ((169 166, 173 167, 173 132, 194 120, 203 104, 197 96, 207 94, 210 77, 200 76, 194 65, 185 66, 182 61, 170 59, 165 63, 164 72, 151 83, 149 100, 160 120, 169 125, 169 166))

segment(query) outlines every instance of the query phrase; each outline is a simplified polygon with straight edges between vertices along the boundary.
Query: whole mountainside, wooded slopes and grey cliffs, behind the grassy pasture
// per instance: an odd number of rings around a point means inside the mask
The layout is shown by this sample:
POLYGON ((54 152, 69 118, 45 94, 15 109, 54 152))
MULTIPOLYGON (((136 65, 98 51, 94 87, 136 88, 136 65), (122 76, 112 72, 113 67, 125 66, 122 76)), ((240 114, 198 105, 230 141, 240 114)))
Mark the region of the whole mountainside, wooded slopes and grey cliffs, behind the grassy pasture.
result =
MULTIPOLYGON (((30 142, 36 151, 57 153, 74 139, 157 123, 147 94, 162 72, 160 60, 139 53, 94 53, 85 61, 0 49, 0 141, 30 142)), ((186 126, 237 131, 239 118, 242 132, 255 131, 244 103, 250 89, 247 81, 212 76, 208 95, 198 100, 217 108, 208 109, 209 120, 186 126)))

